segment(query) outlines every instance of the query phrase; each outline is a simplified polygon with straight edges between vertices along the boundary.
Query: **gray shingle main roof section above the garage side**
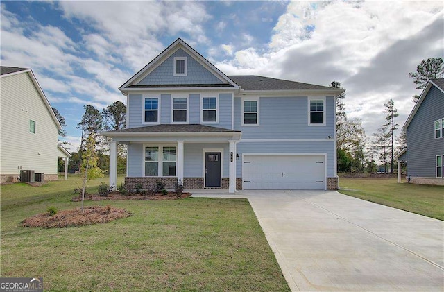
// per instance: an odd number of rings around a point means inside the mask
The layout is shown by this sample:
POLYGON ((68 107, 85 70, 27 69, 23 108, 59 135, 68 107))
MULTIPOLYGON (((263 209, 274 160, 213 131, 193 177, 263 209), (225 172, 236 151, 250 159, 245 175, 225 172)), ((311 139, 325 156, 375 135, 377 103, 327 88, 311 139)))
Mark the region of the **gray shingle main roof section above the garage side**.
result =
POLYGON ((257 75, 228 76, 237 85, 246 90, 328 90, 332 87, 300 83, 257 75))

